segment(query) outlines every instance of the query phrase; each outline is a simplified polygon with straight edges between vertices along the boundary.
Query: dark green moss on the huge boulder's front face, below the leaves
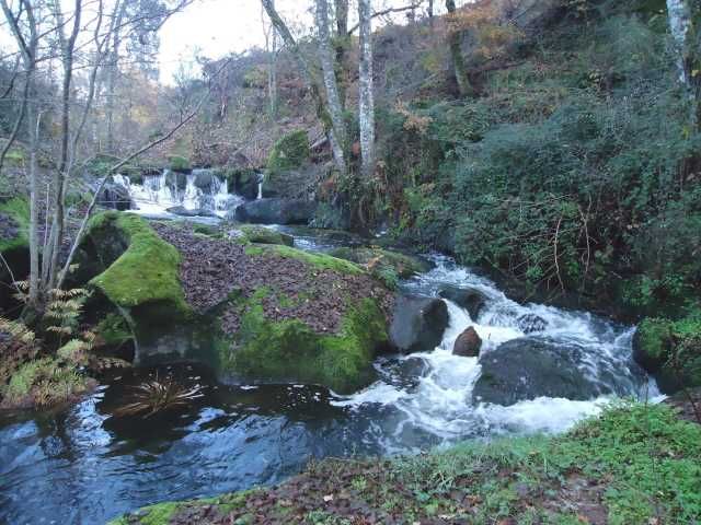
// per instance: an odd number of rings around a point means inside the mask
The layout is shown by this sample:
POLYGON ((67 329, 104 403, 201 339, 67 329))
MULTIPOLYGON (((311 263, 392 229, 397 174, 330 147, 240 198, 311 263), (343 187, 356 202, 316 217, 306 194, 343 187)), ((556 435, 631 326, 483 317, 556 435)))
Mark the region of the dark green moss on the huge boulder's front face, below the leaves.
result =
POLYGON ((220 354, 223 370, 258 378, 289 380, 353 392, 368 384, 376 349, 387 341, 384 315, 365 299, 346 313, 341 331, 319 335, 299 319, 266 319, 260 289, 241 305, 237 348, 220 354))

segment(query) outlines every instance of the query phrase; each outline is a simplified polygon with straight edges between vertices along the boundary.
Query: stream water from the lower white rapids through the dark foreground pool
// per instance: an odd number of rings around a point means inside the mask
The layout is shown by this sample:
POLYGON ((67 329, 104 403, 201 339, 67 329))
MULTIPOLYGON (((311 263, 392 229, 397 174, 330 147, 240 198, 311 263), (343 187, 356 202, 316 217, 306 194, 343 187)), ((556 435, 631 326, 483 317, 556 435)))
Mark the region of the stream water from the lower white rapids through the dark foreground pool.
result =
MULTIPOLYGON (((160 190, 159 190, 160 191, 160 190)), ((284 229, 304 249, 358 244, 348 235, 284 229)), ((576 345, 593 380, 619 394, 654 397, 632 362, 633 329, 584 312, 508 300, 490 280, 446 257, 402 283, 406 293, 435 296, 445 284, 481 291, 476 319, 448 302, 450 325, 436 349, 376 361, 378 380, 350 396, 302 385, 218 384, 194 364, 128 371, 69 409, 0 420, 0 523, 99 524, 136 508, 272 483, 312 457, 414 453, 464 439, 562 432, 597 413, 606 397, 538 398, 509 407, 472 398, 475 358, 451 354, 457 336, 474 326, 483 351, 522 337, 518 319, 545 322, 539 337, 576 345), (200 385, 187 409, 128 418, 115 413, 125 392, 149 374, 200 385)))

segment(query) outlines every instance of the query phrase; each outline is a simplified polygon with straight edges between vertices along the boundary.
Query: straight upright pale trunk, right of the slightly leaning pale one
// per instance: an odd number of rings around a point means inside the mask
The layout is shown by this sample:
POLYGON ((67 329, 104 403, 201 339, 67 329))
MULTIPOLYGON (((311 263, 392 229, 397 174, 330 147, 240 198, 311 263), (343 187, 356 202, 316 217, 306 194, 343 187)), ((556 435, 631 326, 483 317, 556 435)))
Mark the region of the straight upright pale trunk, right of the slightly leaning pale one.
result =
POLYGON ((375 172, 375 98, 372 94, 372 13, 370 0, 358 0, 360 67, 358 120, 360 125, 361 173, 375 172))

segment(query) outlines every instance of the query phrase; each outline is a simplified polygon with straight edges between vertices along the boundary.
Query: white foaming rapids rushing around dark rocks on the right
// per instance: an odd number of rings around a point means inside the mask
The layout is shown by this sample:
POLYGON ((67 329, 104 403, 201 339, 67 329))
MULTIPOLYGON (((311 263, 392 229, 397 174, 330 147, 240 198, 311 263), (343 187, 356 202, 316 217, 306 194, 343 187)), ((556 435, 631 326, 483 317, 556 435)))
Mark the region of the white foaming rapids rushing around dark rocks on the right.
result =
POLYGON ((539 397, 508 407, 472 398, 481 365, 476 358, 452 354, 456 339, 473 326, 483 340, 482 352, 490 352, 506 341, 526 336, 518 323, 526 314, 545 320, 547 327, 538 338, 575 346, 582 352, 581 369, 591 381, 618 395, 658 396, 654 381, 641 374, 632 361, 633 328, 584 312, 541 304, 520 305, 506 298, 489 279, 456 265, 452 259, 437 256, 434 261, 436 267, 406 282, 404 291, 435 296, 446 284, 475 289, 486 298, 479 317, 472 319, 466 310, 446 301, 450 324, 437 348, 381 361, 377 365, 378 382, 352 396, 336 396, 332 404, 360 412, 371 404, 398 410, 403 420, 395 422, 397 442, 405 442, 410 431, 423 432, 443 442, 504 432, 562 432, 576 421, 598 413, 610 396, 589 400, 539 397), (402 374, 398 370, 417 360, 424 368, 417 381, 409 384, 398 381, 402 374))

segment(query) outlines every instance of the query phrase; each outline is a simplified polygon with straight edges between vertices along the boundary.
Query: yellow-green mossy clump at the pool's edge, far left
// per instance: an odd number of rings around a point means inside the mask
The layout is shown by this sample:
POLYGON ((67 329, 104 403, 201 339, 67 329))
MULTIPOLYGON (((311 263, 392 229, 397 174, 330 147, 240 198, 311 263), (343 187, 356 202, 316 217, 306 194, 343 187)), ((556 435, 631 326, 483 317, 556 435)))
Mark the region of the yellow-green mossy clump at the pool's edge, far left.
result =
POLYGON ((49 407, 85 392, 85 380, 54 358, 28 361, 2 392, 3 407, 49 407))

